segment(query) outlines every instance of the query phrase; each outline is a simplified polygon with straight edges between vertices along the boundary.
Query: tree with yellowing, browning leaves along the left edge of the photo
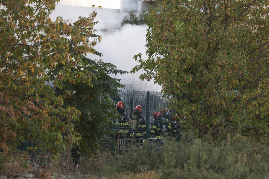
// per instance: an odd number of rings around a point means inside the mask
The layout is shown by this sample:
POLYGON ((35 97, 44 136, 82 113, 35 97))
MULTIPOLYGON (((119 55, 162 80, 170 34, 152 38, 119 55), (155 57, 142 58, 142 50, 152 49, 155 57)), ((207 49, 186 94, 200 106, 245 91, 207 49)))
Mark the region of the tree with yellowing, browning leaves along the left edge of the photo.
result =
MULTIPOLYGON (((56 2, 0 2, 0 148, 4 151, 0 154, 0 163, 7 159, 8 151, 15 149, 18 139, 35 143, 52 141, 52 146, 45 146, 43 150, 54 153, 71 147, 78 137, 74 121, 79 121, 83 111, 66 104, 68 94, 64 85, 80 83, 94 87, 103 80, 97 78, 93 67, 92 71, 87 71, 82 58, 87 53, 100 54, 93 48, 102 39, 94 35, 93 26, 98 23, 94 22, 96 12, 87 18, 80 17, 74 24, 60 17, 51 21, 49 15, 56 2), (80 66, 85 67, 84 71, 74 72, 80 66), (63 69, 51 79, 49 72, 58 67, 63 69), (51 80, 57 88, 63 89, 62 93, 56 95, 47 85, 51 80)), ((114 68, 102 62, 93 66, 102 70, 114 68)))

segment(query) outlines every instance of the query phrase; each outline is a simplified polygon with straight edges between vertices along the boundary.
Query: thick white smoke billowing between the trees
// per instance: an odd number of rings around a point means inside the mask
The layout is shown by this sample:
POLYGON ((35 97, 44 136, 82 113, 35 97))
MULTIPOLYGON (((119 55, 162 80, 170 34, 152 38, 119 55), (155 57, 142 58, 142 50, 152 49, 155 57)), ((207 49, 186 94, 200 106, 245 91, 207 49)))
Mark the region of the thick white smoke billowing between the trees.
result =
MULTIPOLYGON (((96 21, 99 21, 99 24, 95 26, 97 29, 97 35, 102 36, 101 44, 98 44, 94 48, 103 54, 102 57, 97 57, 91 54, 88 54, 87 57, 94 60, 103 59, 105 62, 112 63, 117 66, 117 69, 130 72, 133 67, 138 65, 137 61, 133 59, 134 55, 141 53, 143 59, 147 58, 146 48, 146 25, 131 25, 126 24, 123 27, 120 27, 120 23, 123 17, 127 13, 119 13, 117 9, 108 9, 103 8, 91 8, 90 7, 80 7, 80 6, 70 6, 63 5, 68 3, 70 0, 61 0, 60 3, 56 5, 54 12, 51 14, 51 19, 55 20, 58 16, 61 16, 63 19, 69 19, 71 22, 77 21, 79 16, 88 17, 90 13, 94 10, 97 12, 96 21), (105 33, 103 29, 109 27, 113 30, 112 33, 105 33)), ((76 0, 75 2, 83 2, 84 0, 76 0)), ((88 0, 89 2, 94 2, 96 0, 88 0)), ((107 0, 98 0, 104 5, 109 5, 107 0)), ((118 0, 110 0, 118 1, 118 0)), ((89 3, 88 3, 89 4, 89 3)), ((84 4, 85 5, 85 4, 84 4)), ((85 5, 86 6, 86 5, 85 5)), ((112 7, 112 6, 111 6, 112 7)), ((152 81, 141 81, 139 80, 140 74, 144 73, 139 71, 135 74, 124 74, 124 75, 111 75, 113 78, 121 79, 121 83, 126 86, 127 90, 142 90, 142 91, 161 91, 161 86, 154 84, 152 81)))

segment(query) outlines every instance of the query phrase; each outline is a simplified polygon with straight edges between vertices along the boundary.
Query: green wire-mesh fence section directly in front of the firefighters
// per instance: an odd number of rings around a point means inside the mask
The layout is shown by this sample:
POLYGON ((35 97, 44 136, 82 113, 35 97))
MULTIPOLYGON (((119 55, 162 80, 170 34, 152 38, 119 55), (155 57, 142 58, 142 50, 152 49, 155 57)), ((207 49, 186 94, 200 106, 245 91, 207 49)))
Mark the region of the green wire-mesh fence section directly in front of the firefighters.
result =
MULTIPOLYGON (((187 130, 187 128, 181 127, 180 119, 177 121, 171 120, 176 114, 175 109, 168 108, 169 104, 172 104, 172 96, 164 95, 161 92, 131 90, 120 90, 118 95, 118 97, 113 97, 113 100, 115 102, 121 101, 125 105, 124 114, 127 116, 127 122, 129 123, 129 134, 124 132, 124 130, 121 130, 120 127, 122 127, 122 125, 119 124, 116 126, 117 132, 114 135, 114 138, 117 141, 114 149, 116 154, 121 155, 124 150, 128 150, 133 146, 141 147, 143 142, 148 142, 150 148, 157 148, 165 143, 165 138, 175 138, 178 140, 178 138, 183 135, 183 132, 187 130), (134 108, 138 105, 142 107, 142 113, 140 115, 145 120, 145 123, 138 121, 138 119, 135 121, 134 118, 132 118, 134 108), (154 123, 153 113, 161 112, 162 108, 168 109, 166 115, 162 116, 161 120, 159 121, 159 124, 161 124, 159 129, 161 128, 162 131, 158 133, 158 136, 152 136, 150 135, 152 134, 150 131, 152 131, 152 127, 154 127, 152 126, 154 123), (169 117, 167 117, 167 115, 169 117), (162 118, 167 118, 169 120, 166 120, 167 123, 162 123, 162 118), (140 128, 137 125, 137 128, 134 129, 133 123, 138 123, 138 125, 141 124, 141 126, 146 124, 146 128, 140 128), (162 124, 165 124, 166 129, 163 129, 162 124), (137 133, 141 134, 142 136, 135 135, 137 133)), ((189 96, 186 95, 184 98, 187 98, 187 100, 190 101, 189 96)), ((136 125, 134 124, 134 126, 136 125)), ((122 128, 125 128, 125 131, 127 131, 127 127, 122 128)))

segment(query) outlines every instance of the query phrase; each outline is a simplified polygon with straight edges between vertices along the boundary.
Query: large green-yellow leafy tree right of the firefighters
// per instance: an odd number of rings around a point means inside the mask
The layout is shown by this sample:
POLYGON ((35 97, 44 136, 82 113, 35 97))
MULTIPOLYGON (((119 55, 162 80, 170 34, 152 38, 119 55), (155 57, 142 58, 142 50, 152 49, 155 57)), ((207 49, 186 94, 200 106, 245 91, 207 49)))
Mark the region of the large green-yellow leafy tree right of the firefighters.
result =
POLYGON ((230 130, 268 142, 268 1, 162 1, 135 55, 200 136, 230 130), (187 100, 189 97, 191 100, 187 100))

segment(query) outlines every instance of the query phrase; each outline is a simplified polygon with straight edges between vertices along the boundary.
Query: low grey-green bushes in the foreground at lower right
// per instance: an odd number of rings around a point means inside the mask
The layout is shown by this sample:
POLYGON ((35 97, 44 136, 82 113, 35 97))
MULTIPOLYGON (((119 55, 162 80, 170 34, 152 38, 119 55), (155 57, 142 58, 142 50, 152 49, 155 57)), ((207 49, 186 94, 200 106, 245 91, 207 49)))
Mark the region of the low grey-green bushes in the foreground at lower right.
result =
POLYGON ((218 142, 185 136, 180 141, 166 138, 157 150, 147 143, 143 149, 133 147, 100 173, 115 177, 155 170, 161 178, 268 178, 268 160, 267 146, 241 135, 218 142))

